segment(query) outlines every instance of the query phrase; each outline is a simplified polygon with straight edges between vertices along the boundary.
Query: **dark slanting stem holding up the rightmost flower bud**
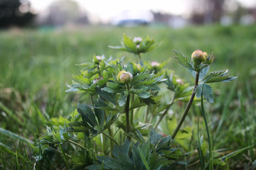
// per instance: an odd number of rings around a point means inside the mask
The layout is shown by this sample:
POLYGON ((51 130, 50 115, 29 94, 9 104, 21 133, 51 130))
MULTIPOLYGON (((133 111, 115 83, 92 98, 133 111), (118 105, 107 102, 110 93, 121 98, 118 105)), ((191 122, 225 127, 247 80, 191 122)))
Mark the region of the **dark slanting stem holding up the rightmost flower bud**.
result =
POLYGON ((183 113, 183 115, 181 117, 181 120, 178 122, 178 125, 176 126, 173 135, 171 135, 171 137, 173 139, 176 137, 178 130, 181 128, 181 125, 183 124, 183 121, 185 120, 186 115, 188 115, 188 111, 191 108, 191 105, 193 103, 193 98, 195 98, 195 95, 196 95, 194 92, 195 92, 196 87, 198 85, 198 79, 199 79, 199 72, 196 72, 196 81, 195 81, 195 86, 193 88, 193 92, 191 94, 191 98, 188 101, 188 105, 186 106, 186 109, 185 109, 185 111, 184 111, 184 113, 183 113))

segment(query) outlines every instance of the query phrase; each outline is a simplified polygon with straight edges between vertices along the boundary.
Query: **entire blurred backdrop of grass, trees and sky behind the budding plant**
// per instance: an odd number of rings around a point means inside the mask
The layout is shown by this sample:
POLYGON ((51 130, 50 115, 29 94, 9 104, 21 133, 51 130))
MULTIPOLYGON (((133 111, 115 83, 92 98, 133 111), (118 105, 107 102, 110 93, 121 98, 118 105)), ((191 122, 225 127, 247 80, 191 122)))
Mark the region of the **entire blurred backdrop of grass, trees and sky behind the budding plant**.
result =
MULTIPOLYGON (((173 49, 189 59, 194 50, 212 53, 210 72, 229 69, 230 76, 238 76, 229 84, 213 85, 215 103, 206 104, 206 112, 214 149, 251 146, 256 141, 255 22, 255 0, 0 0, 0 132, 36 141, 48 125, 43 113, 49 118, 73 113, 78 102, 87 101, 85 94, 65 93, 73 74, 82 69, 75 64, 92 62, 93 55, 135 61, 108 47, 120 45, 125 33, 161 42, 142 60, 171 58, 166 68, 186 83, 193 84, 193 77, 174 60, 173 49)), ((193 115, 200 109, 195 105, 191 112, 186 125, 195 128, 193 115)), ((23 155, 18 144, 0 135, 1 153, 9 146, 23 155)), ((254 147, 250 154, 234 157, 230 169, 252 164, 255 153, 254 147)), ((4 152, 1 160, 8 160, 9 169, 18 167, 15 154, 4 152)), ((28 160, 24 164, 33 166, 33 157, 28 160)))

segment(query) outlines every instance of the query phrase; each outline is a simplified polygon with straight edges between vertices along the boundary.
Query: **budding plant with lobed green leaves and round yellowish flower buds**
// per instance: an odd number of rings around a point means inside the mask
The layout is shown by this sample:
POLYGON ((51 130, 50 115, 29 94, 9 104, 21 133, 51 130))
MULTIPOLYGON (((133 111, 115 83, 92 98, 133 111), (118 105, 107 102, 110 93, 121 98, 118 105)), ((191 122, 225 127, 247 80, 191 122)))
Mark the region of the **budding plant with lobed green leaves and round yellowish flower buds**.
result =
POLYGON ((112 48, 133 53, 139 62, 95 55, 92 62, 80 64, 84 68, 67 92, 80 91, 90 101, 78 103, 68 118, 48 119, 46 134, 35 144, 35 167, 49 169, 63 159, 65 164, 60 167, 67 169, 228 169, 227 159, 244 149, 225 155, 213 150, 203 99, 214 101, 209 84, 237 77, 229 77, 227 69, 208 73, 213 55, 207 52, 196 50, 189 61, 174 50, 178 63, 195 77, 191 86, 174 71, 164 69, 169 60, 161 64, 142 61, 144 53, 157 47, 149 37, 124 35, 122 45, 112 48), (193 130, 181 129, 181 125, 195 96, 201 101, 208 142, 200 136, 198 120, 196 145, 191 147, 193 130), (181 103, 187 105, 176 123, 169 111, 178 106, 180 112, 181 103), (187 160, 188 155, 193 160, 187 160))

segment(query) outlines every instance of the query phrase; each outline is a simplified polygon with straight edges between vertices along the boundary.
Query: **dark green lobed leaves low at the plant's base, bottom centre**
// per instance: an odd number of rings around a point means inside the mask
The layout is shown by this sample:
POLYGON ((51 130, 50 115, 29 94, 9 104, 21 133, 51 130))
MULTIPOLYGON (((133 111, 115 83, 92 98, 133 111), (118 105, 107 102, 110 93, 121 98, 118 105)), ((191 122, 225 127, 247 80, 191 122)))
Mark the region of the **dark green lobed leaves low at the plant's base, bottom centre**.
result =
POLYGON ((181 157, 181 152, 171 147, 170 136, 161 137, 151 130, 145 141, 139 131, 137 135, 140 138, 137 143, 126 140, 123 145, 114 147, 113 158, 97 157, 97 162, 87 169, 171 169, 175 160, 181 157))

